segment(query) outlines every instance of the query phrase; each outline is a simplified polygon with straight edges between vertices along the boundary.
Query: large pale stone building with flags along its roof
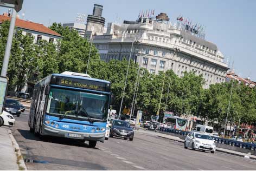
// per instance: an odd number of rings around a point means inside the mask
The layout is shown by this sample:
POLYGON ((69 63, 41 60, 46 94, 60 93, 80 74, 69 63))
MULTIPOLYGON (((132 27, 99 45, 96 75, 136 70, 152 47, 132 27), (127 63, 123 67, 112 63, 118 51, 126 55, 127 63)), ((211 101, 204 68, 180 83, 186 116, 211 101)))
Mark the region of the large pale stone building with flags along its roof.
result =
POLYGON ((93 38, 101 60, 128 60, 133 44, 132 60, 150 73, 172 69, 181 77, 183 71, 194 71, 196 75, 203 74, 204 88, 225 82, 228 67, 214 43, 170 24, 166 14, 156 18, 108 23, 107 32, 93 38))

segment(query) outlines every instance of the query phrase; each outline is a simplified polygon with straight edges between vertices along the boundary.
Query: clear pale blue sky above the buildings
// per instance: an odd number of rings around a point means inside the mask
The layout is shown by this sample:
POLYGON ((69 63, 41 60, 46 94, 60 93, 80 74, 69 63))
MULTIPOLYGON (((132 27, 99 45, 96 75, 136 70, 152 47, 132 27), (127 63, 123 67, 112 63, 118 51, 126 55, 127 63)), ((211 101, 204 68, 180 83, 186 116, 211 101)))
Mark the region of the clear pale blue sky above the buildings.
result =
MULTIPOLYGON (((77 13, 92 14, 93 5, 103 5, 103 17, 107 22, 117 20, 135 20, 140 10, 155 9, 155 14, 165 12, 172 22, 178 15, 206 26, 206 39, 217 45, 218 49, 234 60, 236 74, 251 77, 256 81, 256 1, 243 0, 202 0, 202 1, 168 1, 168 0, 24 0, 20 16, 46 26, 53 22, 75 21, 77 13), (117 19, 120 18, 120 19, 117 19)), ((0 13, 8 11, 0 7, 0 13)), ((105 25, 106 26, 106 25, 105 25)), ((225 59, 225 61, 226 61, 225 59)))

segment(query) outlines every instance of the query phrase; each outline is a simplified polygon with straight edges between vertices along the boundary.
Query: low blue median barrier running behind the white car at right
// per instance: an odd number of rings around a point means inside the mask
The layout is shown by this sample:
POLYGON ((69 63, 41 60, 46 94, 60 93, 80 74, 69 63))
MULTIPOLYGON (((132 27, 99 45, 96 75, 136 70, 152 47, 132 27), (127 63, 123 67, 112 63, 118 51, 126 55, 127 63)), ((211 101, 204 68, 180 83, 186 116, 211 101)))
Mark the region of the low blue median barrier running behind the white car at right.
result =
MULTIPOLYGON (((180 137, 180 139, 184 140, 185 137, 190 133, 190 131, 182 131, 170 128, 160 128, 158 131, 162 134, 168 134, 172 136, 180 137)), ((256 155, 256 144, 248 143, 248 142, 239 142, 229 139, 223 139, 221 137, 212 136, 213 140, 216 142, 216 147, 225 148, 230 150, 235 150, 236 152, 241 153, 251 153, 252 155, 256 155)))

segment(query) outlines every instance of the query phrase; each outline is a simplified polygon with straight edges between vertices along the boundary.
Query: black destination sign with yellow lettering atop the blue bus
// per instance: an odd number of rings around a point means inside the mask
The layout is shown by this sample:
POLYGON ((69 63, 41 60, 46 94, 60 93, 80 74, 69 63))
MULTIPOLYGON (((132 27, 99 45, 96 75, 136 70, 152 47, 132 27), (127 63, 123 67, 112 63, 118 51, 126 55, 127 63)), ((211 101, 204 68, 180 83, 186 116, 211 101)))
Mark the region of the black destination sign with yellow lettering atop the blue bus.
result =
POLYGON ((110 84, 92 80, 82 80, 79 78, 59 77, 56 78, 56 84, 60 86, 76 87, 82 89, 91 89, 98 91, 110 91, 110 84))

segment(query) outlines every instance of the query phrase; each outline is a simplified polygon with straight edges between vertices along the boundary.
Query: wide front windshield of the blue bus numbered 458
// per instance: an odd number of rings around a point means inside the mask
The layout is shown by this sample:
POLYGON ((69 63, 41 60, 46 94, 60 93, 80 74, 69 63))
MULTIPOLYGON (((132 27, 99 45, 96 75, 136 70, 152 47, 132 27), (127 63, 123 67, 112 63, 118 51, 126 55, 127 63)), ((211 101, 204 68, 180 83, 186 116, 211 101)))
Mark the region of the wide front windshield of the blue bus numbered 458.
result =
POLYGON ((107 105, 106 95, 52 88, 47 113, 106 120, 107 105))

